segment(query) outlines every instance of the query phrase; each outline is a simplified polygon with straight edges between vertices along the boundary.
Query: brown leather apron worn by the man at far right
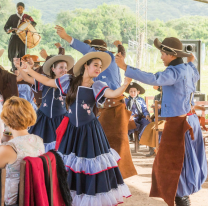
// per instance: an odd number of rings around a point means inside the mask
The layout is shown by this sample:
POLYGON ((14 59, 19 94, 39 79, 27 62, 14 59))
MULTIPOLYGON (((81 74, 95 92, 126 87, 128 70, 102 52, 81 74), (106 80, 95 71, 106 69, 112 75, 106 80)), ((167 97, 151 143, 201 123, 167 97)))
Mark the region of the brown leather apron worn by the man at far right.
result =
POLYGON ((159 151, 152 168, 150 197, 161 197, 169 206, 174 206, 179 177, 185 153, 185 133, 193 130, 185 117, 166 118, 159 151))

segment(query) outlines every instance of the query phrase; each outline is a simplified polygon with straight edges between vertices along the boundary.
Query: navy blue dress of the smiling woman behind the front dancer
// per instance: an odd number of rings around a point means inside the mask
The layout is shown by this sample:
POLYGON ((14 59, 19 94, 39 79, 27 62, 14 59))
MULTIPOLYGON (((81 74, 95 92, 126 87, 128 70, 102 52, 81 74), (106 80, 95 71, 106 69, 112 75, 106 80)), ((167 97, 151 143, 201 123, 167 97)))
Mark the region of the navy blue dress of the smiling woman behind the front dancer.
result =
POLYGON ((47 152, 50 150, 48 144, 56 141, 56 129, 67 115, 65 100, 59 89, 44 86, 36 80, 32 89, 42 91, 42 104, 37 111, 36 124, 29 129, 29 133, 43 138, 47 152))

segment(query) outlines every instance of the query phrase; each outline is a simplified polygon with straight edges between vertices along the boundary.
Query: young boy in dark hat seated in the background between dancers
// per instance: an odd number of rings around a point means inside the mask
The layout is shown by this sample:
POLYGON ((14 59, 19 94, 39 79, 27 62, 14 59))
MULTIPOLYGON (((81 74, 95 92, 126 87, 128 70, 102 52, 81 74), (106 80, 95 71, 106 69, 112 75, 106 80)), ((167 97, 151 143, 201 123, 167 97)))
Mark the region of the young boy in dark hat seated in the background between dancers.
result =
POLYGON ((132 112, 130 121, 134 121, 136 124, 136 128, 129 130, 128 135, 132 141, 133 133, 137 131, 140 140, 145 127, 151 122, 146 103, 142 97, 139 97, 139 94, 144 94, 145 90, 136 82, 131 82, 125 92, 129 93, 129 98, 125 99, 125 103, 127 109, 132 112))

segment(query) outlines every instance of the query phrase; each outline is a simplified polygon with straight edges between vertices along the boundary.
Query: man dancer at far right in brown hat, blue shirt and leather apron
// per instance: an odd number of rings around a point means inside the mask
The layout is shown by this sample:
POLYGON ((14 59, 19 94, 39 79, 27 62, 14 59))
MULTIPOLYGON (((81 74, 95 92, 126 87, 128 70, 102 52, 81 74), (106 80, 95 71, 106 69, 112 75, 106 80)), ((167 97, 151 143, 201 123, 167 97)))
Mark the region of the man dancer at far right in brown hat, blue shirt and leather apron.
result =
POLYGON ((192 63, 194 56, 183 52, 179 39, 155 39, 154 45, 167 66, 163 72, 152 74, 127 66, 121 54, 116 62, 127 77, 162 86, 161 116, 166 123, 153 164, 150 197, 161 197, 169 206, 174 206, 174 198, 176 206, 190 206, 189 195, 199 191, 207 178, 201 127, 191 107, 199 72, 192 63), (182 57, 189 63, 184 64, 182 57))

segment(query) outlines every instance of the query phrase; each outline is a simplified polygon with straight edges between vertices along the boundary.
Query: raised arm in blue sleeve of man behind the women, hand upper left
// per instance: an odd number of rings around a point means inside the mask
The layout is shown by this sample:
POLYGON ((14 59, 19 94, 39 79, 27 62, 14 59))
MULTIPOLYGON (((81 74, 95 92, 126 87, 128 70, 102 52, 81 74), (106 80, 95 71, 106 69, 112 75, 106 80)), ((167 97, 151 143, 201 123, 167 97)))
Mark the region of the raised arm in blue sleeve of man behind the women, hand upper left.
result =
POLYGON ((89 53, 90 51, 96 51, 94 48, 91 48, 90 45, 85 44, 77 39, 72 38, 68 35, 65 29, 61 26, 56 25, 55 29, 57 30, 57 34, 67 41, 72 48, 76 49, 77 51, 81 52, 83 55, 89 53))

